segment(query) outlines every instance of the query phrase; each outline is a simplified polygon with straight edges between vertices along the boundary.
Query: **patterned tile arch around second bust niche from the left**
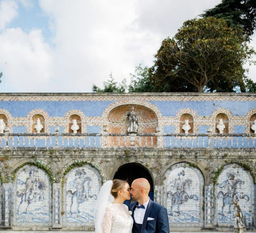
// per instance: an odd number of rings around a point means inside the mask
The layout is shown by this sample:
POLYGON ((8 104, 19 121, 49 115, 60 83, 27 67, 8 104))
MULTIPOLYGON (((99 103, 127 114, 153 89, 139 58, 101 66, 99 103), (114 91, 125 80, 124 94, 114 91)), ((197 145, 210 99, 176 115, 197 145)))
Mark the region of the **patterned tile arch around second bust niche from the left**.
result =
POLYGON ((43 109, 34 109, 28 113, 27 119, 25 119, 27 121, 27 125, 26 125, 27 133, 34 132, 34 126, 35 126, 34 120, 38 117, 40 118, 40 120, 44 120, 44 122, 41 122, 44 126, 44 128, 42 129, 42 132, 49 133, 50 132, 50 125, 49 125, 50 117, 49 117, 48 113, 46 111, 44 111, 43 109))

